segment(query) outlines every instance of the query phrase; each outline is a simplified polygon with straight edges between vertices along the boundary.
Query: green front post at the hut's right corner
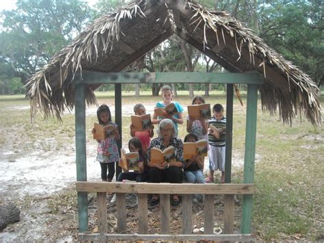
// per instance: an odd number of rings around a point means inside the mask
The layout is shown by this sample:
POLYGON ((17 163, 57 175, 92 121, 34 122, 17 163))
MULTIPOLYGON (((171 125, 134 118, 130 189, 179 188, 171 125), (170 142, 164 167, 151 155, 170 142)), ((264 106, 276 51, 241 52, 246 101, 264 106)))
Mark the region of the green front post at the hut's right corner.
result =
MULTIPOLYGON (((247 86, 247 111, 245 129, 244 183, 254 183, 254 159, 256 155, 256 113, 258 86, 247 86)), ((251 233, 252 194, 243 195, 241 233, 251 233)))

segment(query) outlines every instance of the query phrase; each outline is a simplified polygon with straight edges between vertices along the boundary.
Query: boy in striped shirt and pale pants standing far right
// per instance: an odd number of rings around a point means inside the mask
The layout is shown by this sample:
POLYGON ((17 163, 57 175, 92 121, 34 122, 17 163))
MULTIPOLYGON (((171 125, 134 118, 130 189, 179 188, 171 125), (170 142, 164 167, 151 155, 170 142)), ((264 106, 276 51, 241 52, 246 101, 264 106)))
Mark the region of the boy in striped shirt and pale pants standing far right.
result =
MULTIPOLYGON (((213 106, 213 117, 208 121, 208 125, 213 125, 217 129, 226 128, 226 118, 224 117, 224 107, 221 104, 213 106)), ((221 133, 219 138, 213 134, 212 129, 208 129, 208 156, 209 172, 206 182, 214 182, 214 171, 221 171, 220 182, 225 180, 225 133, 221 133)))

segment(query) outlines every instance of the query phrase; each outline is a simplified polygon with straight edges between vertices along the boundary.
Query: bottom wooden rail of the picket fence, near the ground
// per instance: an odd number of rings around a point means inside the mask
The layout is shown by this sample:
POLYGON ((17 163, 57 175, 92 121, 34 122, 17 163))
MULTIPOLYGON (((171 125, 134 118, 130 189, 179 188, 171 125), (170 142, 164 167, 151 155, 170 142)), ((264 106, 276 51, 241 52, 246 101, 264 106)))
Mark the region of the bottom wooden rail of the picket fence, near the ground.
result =
POLYGON ((213 241, 249 241, 252 240, 250 234, 232 234, 232 235, 140 235, 140 234, 100 234, 100 233, 79 233, 78 241, 107 241, 107 240, 170 240, 176 241, 199 241, 199 240, 213 240, 213 241))

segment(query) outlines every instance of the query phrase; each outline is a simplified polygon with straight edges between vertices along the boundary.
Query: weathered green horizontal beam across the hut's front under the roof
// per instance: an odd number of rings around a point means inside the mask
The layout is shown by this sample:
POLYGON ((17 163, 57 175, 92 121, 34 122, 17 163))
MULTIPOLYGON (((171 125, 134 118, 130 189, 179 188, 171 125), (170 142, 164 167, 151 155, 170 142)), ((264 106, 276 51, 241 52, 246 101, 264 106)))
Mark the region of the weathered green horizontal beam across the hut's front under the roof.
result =
POLYGON ((83 71, 85 84, 262 84, 259 73, 100 73, 83 71))

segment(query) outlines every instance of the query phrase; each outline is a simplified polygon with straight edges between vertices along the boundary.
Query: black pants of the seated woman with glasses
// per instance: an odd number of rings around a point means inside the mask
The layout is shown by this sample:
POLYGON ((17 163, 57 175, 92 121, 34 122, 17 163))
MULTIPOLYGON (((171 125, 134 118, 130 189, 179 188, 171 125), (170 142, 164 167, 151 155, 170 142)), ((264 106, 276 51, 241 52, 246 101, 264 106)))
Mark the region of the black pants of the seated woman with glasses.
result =
POLYGON ((150 168, 150 170, 148 170, 148 175, 150 176, 150 182, 152 183, 181 183, 181 180, 183 179, 183 170, 176 166, 170 166, 165 170, 150 168))

